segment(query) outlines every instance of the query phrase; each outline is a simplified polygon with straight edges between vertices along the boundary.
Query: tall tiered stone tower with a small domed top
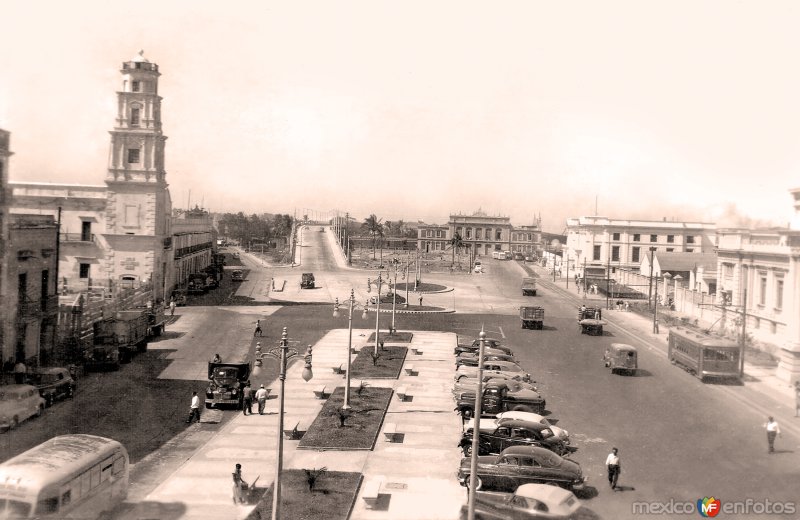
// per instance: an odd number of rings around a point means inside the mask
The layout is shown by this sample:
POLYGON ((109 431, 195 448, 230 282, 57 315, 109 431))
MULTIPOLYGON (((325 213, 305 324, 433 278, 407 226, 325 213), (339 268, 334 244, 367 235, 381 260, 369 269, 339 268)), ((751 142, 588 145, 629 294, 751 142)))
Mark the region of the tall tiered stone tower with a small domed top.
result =
POLYGON ((111 134, 106 185, 105 269, 122 285, 152 282, 165 298, 172 204, 164 168, 158 65, 140 51, 122 64, 122 90, 111 134))

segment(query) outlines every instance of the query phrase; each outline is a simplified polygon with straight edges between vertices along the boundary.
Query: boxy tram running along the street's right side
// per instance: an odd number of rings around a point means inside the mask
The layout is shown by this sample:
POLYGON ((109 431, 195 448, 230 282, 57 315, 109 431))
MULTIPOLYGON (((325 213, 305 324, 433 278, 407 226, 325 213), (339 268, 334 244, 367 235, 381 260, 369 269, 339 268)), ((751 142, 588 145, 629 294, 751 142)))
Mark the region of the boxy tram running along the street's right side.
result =
POLYGON ((741 347, 728 339, 675 327, 669 331, 667 357, 705 382, 706 378, 740 379, 741 347))

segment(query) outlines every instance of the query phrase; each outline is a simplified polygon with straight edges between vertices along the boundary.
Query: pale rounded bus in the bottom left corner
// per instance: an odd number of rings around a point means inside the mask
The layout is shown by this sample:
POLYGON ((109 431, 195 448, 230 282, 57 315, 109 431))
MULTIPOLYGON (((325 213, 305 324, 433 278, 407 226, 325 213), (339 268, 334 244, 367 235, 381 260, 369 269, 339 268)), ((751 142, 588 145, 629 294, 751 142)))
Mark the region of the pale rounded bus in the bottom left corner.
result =
POLYGON ((0 518, 97 518, 128 496, 124 446, 60 435, 0 464, 0 518))

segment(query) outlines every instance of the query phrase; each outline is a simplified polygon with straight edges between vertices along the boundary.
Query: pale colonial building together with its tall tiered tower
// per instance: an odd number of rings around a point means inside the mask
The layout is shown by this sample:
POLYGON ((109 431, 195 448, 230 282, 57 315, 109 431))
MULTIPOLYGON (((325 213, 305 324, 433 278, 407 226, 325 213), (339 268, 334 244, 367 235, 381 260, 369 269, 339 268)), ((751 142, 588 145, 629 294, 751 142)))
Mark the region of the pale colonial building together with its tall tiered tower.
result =
MULTIPOLYGON (((149 284, 154 299, 168 300, 188 276, 187 233, 203 233, 203 244, 209 244, 207 254, 193 250, 189 268, 199 272, 209 265, 211 221, 184 222, 176 235, 181 238, 173 237, 158 65, 140 52, 120 73, 105 184, 11 183, 12 212, 60 221, 60 293, 149 284)), ((188 241, 196 246, 196 240, 188 241)))

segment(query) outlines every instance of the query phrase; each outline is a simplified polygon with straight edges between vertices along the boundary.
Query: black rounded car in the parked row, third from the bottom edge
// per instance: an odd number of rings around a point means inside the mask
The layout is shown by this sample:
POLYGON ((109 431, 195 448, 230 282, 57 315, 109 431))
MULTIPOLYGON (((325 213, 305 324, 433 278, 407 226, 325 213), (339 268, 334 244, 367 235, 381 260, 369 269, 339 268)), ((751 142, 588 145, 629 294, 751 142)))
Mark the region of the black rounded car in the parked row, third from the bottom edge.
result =
MULTIPOLYGON (((464 447, 464 455, 471 453, 471 442, 473 429, 468 429, 461 436, 459 446, 464 447)), ((478 455, 489 455, 500 453, 511 446, 541 446, 550 451, 565 455, 573 453, 576 448, 567 445, 553 434, 549 426, 541 423, 534 423, 519 420, 498 421, 497 427, 492 432, 481 428, 480 451, 478 455)))

